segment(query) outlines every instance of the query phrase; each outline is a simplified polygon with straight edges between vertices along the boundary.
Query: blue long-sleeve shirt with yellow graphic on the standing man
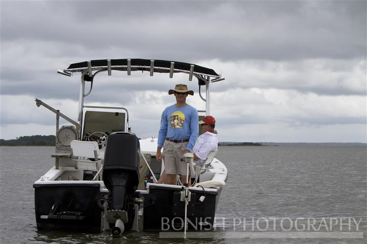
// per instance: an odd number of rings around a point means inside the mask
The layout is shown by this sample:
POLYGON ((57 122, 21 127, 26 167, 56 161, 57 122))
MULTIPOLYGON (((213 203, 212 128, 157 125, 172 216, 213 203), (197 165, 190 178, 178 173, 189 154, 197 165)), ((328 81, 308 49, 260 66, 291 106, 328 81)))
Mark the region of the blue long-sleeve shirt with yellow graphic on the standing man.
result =
POLYGON ((187 150, 192 150, 199 134, 197 110, 186 104, 184 107, 172 105, 167 107, 161 117, 161 128, 158 134, 158 146, 162 147, 166 138, 187 140, 187 150))

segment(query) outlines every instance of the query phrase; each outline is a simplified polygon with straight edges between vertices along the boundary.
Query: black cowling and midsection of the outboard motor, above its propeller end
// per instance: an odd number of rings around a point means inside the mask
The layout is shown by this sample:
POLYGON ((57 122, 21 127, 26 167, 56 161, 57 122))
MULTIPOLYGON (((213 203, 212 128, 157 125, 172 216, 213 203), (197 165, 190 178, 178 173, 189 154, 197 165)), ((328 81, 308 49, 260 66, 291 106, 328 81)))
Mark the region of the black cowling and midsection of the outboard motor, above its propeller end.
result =
POLYGON ((126 210, 127 198, 139 185, 140 143, 134 133, 109 135, 104 153, 103 182, 110 191, 110 209, 126 210))

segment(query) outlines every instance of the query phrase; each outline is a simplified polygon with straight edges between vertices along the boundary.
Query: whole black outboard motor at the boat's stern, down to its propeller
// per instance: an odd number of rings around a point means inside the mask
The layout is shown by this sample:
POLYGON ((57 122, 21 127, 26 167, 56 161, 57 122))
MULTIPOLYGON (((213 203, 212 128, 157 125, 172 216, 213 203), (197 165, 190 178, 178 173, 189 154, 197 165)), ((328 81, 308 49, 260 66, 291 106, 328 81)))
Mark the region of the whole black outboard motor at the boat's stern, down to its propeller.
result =
POLYGON ((132 195, 139 185, 139 150, 139 139, 134 133, 115 132, 108 137, 103 182, 110 192, 109 210, 105 214, 108 222, 115 225, 111 229, 113 235, 129 230, 134 222, 132 195), (122 223, 128 224, 124 227, 122 223))

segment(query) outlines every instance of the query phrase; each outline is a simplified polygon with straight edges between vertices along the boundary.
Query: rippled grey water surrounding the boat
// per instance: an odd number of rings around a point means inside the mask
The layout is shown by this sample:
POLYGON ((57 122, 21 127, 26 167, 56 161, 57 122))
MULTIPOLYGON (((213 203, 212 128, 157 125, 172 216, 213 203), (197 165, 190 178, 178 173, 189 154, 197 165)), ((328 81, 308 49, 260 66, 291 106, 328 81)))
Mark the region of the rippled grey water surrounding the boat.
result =
MULTIPOLYGON (((183 242, 183 239, 178 238, 160 238, 157 232, 129 232, 121 238, 112 238, 106 233, 37 231, 32 185, 53 166, 50 154, 54 148, 0 149, 2 244, 183 242)), ((217 208, 216 229, 211 232, 215 236, 189 238, 185 243, 366 242, 366 147, 221 146, 217 158, 226 164, 229 176, 217 208), (329 220, 340 220, 343 217, 346 220, 354 218, 357 222, 362 218, 358 231, 363 231, 364 238, 281 238, 285 237, 284 233, 289 234, 284 229, 295 230, 297 218, 298 227, 306 226, 306 231, 307 227, 320 227, 319 231, 329 231, 326 234, 331 233, 332 237, 336 237, 339 226, 334 225, 333 231, 336 232, 330 232, 329 220), (323 218, 326 221, 324 223, 323 218), (310 220, 314 220, 316 224, 310 226, 308 223, 307 226, 307 221, 310 220), (282 225, 280 221, 283 221, 282 225), (243 230, 244 226, 246 232, 243 230), (251 231, 252 228, 254 231, 251 231), (248 233, 247 238, 241 237, 243 233, 248 233), (251 235, 254 233, 261 234, 260 237, 263 238, 251 235), (278 236, 264 238, 272 233, 278 236), (240 234, 241 238, 235 234, 240 234)), ((349 231, 347 225, 342 227, 343 231, 349 231)), ((355 233, 356 225, 352 225, 349 232, 351 231, 355 233)), ((288 237, 296 237, 290 234, 288 237)))

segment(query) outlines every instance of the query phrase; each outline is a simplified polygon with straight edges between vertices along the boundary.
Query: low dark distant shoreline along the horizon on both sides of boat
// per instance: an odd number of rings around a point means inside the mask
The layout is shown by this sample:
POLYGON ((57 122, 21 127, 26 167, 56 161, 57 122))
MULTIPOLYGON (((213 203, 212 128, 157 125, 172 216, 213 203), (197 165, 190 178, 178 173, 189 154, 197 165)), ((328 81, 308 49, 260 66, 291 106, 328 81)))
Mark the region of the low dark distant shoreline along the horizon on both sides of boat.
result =
MULTIPOLYGON (((55 146, 56 137, 48 136, 21 136, 16 139, 0 139, 0 146, 55 146)), ((218 146, 367 146, 362 142, 226 142, 218 146)))

